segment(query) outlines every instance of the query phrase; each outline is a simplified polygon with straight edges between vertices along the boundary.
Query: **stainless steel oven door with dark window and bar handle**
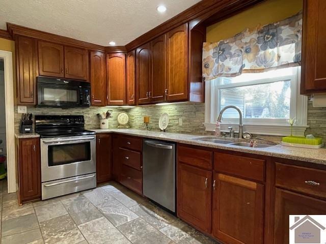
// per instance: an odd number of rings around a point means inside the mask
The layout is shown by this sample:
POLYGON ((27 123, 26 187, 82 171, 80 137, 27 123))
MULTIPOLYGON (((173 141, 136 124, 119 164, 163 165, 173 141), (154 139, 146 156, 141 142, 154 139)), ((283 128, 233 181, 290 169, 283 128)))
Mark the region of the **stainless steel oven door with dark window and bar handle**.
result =
POLYGON ((41 139, 42 182, 95 172, 95 136, 41 139))

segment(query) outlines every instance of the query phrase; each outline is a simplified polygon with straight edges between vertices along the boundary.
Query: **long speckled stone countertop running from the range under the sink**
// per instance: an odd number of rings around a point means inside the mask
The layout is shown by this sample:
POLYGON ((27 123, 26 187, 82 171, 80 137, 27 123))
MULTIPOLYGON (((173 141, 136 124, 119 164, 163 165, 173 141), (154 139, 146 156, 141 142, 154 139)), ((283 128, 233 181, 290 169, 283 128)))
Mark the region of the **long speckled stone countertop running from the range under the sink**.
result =
MULTIPOLYGON (((96 133, 120 133, 130 136, 141 136, 151 139, 167 140, 184 144, 205 146, 211 148, 225 149, 231 151, 240 151, 242 153, 284 158, 290 160, 304 161, 316 164, 326 165, 326 148, 309 149, 291 146, 275 145, 264 148, 243 147, 226 144, 216 144, 213 142, 198 141, 194 138, 209 137, 205 135, 188 135, 158 131, 142 131, 135 129, 95 129, 96 133)), ((262 142, 265 143, 265 142, 262 142)))

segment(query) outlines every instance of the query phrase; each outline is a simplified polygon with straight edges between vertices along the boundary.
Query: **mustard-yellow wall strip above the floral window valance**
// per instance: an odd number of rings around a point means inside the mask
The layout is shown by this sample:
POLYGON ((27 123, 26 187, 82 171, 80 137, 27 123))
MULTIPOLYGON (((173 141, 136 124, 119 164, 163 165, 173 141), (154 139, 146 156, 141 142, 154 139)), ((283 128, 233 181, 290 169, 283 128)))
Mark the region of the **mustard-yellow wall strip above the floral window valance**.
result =
POLYGON ((247 27, 269 24, 302 10, 303 0, 268 0, 206 29, 206 41, 218 42, 232 37, 247 27))

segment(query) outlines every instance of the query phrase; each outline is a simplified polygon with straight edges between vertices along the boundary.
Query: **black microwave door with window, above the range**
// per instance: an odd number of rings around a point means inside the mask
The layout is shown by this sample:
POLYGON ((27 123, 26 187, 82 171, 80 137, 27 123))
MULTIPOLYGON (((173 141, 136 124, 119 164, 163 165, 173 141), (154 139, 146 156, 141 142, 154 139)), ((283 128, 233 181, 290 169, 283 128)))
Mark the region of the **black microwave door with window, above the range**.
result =
POLYGON ((38 106, 78 107, 80 106, 79 87, 39 82, 38 106))

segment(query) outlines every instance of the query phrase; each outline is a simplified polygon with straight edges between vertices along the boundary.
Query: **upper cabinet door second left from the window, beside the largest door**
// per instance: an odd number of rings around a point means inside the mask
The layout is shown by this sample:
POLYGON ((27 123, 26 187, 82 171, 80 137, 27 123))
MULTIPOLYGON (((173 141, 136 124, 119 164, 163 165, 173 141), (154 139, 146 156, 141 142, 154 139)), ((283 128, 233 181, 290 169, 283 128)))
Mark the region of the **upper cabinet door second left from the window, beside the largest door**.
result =
POLYGON ((150 43, 151 63, 151 102, 165 101, 166 89, 166 35, 160 36, 150 43))

